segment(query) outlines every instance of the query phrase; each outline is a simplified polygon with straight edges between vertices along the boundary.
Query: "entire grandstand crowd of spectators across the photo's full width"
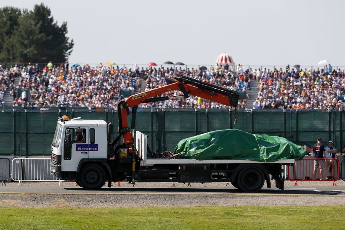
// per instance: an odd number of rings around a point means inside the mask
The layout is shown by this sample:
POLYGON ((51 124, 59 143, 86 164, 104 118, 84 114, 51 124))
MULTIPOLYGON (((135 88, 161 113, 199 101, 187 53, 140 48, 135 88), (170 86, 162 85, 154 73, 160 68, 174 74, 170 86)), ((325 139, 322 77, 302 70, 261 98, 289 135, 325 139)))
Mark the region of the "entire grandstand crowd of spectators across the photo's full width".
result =
MULTIPOLYGON (((10 68, 0 66, 0 102, 9 89, 13 106, 18 107, 88 107, 116 109, 119 101, 128 96, 125 92, 137 93, 166 85, 165 78, 177 74, 214 84, 235 91, 248 92, 250 82, 258 82, 258 96, 254 109, 339 109, 344 108, 345 71, 325 68, 291 69, 289 66, 269 70, 260 68, 244 70, 241 65, 230 69, 218 64, 210 68, 133 67, 105 66, 99 63, 69 66, 28 63, 10 68), (14 79, 19 78, 19 84, 14 79), (143 85, 143 87, 141 87, 143 85), (145 88, 144 88, 145 86, 145 88), (17 95, 17 92, 18 95, 17 95)), ((170 91, 159 96, 179 96, 179 91, 170 91)), ((247 94, 248 95, 248 94, 247 94)), ((228 108, 195 96, 169 101, 151 102, 142 108, 228 108)), ((237 108, 246 108, 241 99, 237 108)), ((252 105, 248 105, 252 107, 252 105)))

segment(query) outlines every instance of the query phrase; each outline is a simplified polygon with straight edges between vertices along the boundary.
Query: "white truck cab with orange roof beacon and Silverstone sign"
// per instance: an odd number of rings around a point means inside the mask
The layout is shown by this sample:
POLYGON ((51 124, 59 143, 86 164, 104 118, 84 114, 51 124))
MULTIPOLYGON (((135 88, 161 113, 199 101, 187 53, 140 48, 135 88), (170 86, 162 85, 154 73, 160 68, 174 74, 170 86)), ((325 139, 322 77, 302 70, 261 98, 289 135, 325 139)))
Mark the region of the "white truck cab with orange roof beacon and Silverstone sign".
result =
POLYGON ((51 172, 63 179, 77 179, 82 162, 107 159, 107 123, 103 120, 58 119, 51 142, 51 172))

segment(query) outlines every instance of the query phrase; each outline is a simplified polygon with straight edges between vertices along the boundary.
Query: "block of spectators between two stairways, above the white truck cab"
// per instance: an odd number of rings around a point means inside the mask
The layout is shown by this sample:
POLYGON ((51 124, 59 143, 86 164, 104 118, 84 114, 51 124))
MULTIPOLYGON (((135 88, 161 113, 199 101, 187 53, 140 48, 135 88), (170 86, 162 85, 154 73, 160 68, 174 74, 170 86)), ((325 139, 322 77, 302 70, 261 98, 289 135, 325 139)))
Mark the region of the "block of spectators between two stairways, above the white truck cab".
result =
POLYGON ((121 89, 135 90, 135 74, 127 69, 103 66, 91 67, 88 64, 68 67, 68 63, 60 66, 48 63, 44 68, 38 64, 28 64, 15 69, 19 77, 17 90, 13 92, 13 106, 20 107, 116 107, 124 95, 121 89), (23 90, 16 95, 18 89, 23 90), (29 94, 29 95, 28 95, 29 94))

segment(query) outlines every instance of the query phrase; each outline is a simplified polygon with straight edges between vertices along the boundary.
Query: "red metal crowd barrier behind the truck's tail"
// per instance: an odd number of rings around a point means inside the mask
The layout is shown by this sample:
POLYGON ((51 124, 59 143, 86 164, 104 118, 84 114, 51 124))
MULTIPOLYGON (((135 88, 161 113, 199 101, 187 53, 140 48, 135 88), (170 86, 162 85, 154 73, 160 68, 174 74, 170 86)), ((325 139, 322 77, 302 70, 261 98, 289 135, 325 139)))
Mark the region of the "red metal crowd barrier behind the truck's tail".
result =
POLYGON ((336 186, 335 181, 340 179, 340 169, 336 158, 302 159, 288 166, 287 177, 295 181, 295 186, 298 186, 297 181, 333 181, 333 186, 336 186))

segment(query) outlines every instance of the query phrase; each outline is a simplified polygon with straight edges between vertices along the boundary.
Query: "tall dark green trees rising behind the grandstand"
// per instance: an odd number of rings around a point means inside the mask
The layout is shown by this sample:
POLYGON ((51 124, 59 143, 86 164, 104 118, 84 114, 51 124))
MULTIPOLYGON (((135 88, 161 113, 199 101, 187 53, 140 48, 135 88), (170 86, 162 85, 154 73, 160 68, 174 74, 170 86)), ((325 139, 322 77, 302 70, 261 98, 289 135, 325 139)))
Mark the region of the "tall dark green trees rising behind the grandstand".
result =
MULTIPOLYGON (((14 12, 16 8, 11 10, 14 12)), ((7 11, 7 8, 0 9, 0 13, 7 11)), ((66 37, 67 22, 58 26, 50 9, 43 3, 36 4, 31 11, 18 11, 16 15, 19 17, 11 18, 13 26, 10 23, 9 26, 0 28, 0 38, 4 41, 0 62, 57 63, 68 59, 74 43, 73 39, 69 41, 66 37)))

